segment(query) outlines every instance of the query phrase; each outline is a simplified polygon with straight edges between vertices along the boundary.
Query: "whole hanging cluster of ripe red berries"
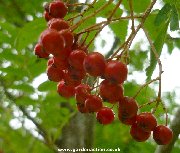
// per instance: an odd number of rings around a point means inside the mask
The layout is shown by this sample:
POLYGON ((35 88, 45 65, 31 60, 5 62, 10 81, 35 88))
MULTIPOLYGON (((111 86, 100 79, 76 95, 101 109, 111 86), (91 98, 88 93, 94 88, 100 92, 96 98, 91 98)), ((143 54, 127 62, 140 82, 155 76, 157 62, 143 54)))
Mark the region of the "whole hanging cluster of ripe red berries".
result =
POLYGON ((110 124, 114 120, 111 108, 103 106, 103 101, 118 103, 119 120, 131 125, 130 134, 137 141, 145 141, 153 131, 154 140, 158 144, 168 144, 172 139, 172 131, 166 126, 157 126, 151 113, 137 115, 138 105, 135 99, 124 97, 123 83, 127 79, 127 66, 115 60, 106 60, 98 52, 88 53, 87 49, 74 40, 70 24, 63 18, 67 14, 66 4, 60 0, 45 6, 44 17, 48 28, 40 35, 35 46, 35 54, 39 58, 49 58, 47 75, 49 80, 58 82, 57 91, 65 97, 75 96, 77 108, 81 113, 96 112, 101 124, 110 124), (85 77, 92 76, 104 79, 97 94, 88 84, 85 77))

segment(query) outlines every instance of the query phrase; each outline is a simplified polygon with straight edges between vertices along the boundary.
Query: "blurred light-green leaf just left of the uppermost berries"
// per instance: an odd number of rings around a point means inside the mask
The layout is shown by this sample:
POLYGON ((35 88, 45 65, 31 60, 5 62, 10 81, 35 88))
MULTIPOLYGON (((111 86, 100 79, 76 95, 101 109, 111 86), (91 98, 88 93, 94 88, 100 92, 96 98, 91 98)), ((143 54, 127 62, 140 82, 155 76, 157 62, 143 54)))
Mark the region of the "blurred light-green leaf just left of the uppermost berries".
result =
POLYGON ((28 22, 19 29, 14 45, 17 50, 26 48, 29 44, 36 42, 40 33, 46 28, 44 18, 38 18, 28 22))

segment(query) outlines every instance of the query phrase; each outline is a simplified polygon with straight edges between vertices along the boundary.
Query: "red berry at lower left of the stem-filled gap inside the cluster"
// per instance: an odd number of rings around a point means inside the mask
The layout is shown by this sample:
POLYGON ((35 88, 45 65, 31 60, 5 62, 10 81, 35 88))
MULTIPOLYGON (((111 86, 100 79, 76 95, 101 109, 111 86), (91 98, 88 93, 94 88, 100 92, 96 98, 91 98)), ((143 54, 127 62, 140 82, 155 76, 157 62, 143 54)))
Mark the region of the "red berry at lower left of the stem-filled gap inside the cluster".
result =
POLYGON ((75 98, 77 103, 84 104, 91 92, 91 87, 87 84, 80 84, 75 87, 75 98))

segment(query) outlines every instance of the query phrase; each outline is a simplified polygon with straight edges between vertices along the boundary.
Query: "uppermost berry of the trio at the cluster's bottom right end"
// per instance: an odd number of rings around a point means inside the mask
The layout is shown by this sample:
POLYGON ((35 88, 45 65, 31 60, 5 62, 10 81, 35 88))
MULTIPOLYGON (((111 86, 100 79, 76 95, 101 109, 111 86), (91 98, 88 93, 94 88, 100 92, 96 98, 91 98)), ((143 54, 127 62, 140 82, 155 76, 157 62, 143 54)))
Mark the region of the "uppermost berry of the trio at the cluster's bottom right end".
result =
POLYGON ((151 132, 157 126, 157 121, 152 113, 141 113, 136 116, 137 126, 143 131, 151 132))

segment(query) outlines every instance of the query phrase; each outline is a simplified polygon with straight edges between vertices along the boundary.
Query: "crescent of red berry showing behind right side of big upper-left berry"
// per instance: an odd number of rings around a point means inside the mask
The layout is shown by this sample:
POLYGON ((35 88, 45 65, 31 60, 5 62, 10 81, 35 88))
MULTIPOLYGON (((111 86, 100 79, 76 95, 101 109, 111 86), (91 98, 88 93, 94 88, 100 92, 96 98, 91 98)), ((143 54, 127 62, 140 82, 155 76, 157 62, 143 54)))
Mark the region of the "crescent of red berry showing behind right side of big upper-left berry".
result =
POLYGON ((74 42, 74 36, 73 33, 69 29, 64 29, 59 31, 60 35, 64 38, 65 40, 65 47, 71 47, 74 42))

